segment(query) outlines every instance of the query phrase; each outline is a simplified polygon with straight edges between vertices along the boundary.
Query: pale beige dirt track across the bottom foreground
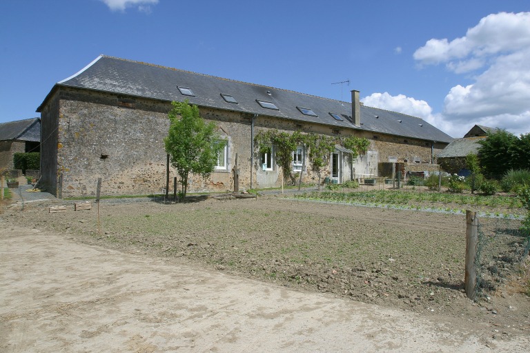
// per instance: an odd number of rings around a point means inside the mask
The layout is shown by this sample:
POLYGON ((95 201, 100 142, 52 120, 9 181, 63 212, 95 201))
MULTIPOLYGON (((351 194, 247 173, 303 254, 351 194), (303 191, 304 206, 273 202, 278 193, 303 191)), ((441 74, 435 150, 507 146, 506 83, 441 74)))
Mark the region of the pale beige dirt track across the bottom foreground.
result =
POLYGON ((0 228, 2 352, 527 352, 529 343, 72 236, 0 228))

